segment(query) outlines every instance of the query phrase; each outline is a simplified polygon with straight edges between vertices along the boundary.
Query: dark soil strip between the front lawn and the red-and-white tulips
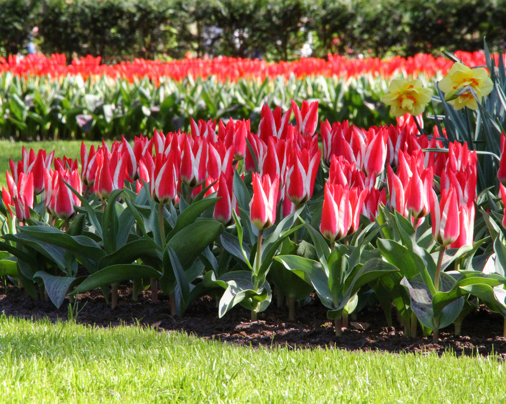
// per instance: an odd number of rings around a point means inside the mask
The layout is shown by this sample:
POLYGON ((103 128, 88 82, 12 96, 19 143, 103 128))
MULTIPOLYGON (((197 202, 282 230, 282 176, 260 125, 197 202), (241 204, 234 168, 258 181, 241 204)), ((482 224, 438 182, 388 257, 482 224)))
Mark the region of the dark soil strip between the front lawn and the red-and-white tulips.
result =
MULTIPOLYGON (((0 312, 7 316, 65 321, 68 306, 68 300, 65 300, 61 308, 56 309, 51 301, 33 299, 17 287, 0 289, 0 312)), ((106 304, 99 292, 79 295, 76 321, 100 327, 140 324, 156 327, 160 332, 183 331, 203 339, 236 345, 333 347, 395 353, 433 351, 442 354, 453 351, 457 356, 494 355, 501 360, 506 359, 502 317, 484 307, 466 317, 461 336, 454 336, 453 327, 448 327, 441 330, 439 341, 435 343, 432 336, 407 338, 400 326, 387 327, 385 315, 377 306, 365 308, 355 319, 350 319, 350 326, 343 329, 341 337, 334 335, 333 323, 326 318, 326 309, 316 297, 297 312, 297 321, 294 322, 287 321, 287 308, 276 306, 273 301, 265 312, 259 314, 256 322, 251 322, 250 313, 239 306, 220 319, 216 301, 203 296, 192 302, 184 317, 171 317, 167 298, 160 295, 159 301, 153 303, 150 292, 145 291, 139 301, 134 302, 131 290, 124 285, 120 286, 115 309, 106 304)))

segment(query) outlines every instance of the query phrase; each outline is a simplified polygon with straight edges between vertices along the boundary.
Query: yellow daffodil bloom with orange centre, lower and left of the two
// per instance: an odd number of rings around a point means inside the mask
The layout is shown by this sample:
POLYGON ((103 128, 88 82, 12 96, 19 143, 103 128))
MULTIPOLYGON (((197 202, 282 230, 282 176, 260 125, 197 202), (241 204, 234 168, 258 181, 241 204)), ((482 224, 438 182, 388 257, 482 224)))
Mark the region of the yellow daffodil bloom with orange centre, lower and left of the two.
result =
POLYGON ((432 96, 432 90, 424 88, 418 79, 394 79, 389 91, 382 97, 382 102, 390 105, 390 111, 398 118, 406 113, 420 115, 432 96))

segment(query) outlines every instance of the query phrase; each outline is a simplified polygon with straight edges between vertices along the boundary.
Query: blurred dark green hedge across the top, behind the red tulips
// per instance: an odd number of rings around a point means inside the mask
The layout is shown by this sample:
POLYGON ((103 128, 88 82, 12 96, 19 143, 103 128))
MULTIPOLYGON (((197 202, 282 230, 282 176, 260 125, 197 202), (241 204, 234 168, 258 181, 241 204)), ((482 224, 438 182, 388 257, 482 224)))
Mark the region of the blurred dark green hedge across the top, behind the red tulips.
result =
POLYGON ((122 58, 412 56, 504 47, 506 0, 0 0, 0 52, 122 58))

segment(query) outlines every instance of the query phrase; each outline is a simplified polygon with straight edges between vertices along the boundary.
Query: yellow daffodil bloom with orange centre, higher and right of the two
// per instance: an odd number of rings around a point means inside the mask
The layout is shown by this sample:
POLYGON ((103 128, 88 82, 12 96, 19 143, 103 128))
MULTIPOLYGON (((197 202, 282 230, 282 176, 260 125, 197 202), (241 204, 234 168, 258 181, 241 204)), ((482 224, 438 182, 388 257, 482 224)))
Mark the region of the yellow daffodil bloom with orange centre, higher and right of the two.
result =
POLYGON ((439 82, 439 88, 446 93, 445 100, 453 105, 455 110, 468 107, 472 110, 478 109, 477 101, 492 91, 494 84, 486 69, 470 69, 461 63, 454 63, 450 71, 439 82), (476 94, 475 98, 471 89, 476 94))

